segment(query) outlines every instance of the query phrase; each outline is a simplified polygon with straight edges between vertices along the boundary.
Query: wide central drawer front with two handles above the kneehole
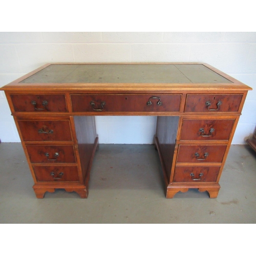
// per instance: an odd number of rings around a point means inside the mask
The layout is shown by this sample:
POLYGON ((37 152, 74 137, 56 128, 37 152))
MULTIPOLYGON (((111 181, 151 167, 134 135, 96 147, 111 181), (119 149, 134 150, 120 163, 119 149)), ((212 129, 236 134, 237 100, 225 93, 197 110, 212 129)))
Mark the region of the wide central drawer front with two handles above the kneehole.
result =
POLYGON ((71 95, 73 112, 179 112, 181 95, 71 95))

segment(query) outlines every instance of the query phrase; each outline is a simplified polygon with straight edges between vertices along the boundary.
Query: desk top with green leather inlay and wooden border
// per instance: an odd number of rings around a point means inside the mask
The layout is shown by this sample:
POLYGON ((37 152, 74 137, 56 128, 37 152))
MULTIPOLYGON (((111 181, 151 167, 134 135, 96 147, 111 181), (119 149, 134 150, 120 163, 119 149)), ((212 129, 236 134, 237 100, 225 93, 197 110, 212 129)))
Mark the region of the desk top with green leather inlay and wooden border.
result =
POLYGON ((9 83, 2 90, 44 87, 251 90, 206 63, 49 63, 9 83))

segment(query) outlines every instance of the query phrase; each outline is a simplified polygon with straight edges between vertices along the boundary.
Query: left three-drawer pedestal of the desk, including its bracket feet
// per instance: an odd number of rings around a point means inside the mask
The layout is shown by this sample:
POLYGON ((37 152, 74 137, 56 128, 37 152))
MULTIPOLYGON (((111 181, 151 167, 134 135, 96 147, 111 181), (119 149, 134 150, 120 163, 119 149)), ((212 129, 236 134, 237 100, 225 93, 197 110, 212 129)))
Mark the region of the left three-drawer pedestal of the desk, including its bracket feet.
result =
POLYGON ((62 188, 88 197, 98 137, 94 116, 14 117, 37 198, 62 188))

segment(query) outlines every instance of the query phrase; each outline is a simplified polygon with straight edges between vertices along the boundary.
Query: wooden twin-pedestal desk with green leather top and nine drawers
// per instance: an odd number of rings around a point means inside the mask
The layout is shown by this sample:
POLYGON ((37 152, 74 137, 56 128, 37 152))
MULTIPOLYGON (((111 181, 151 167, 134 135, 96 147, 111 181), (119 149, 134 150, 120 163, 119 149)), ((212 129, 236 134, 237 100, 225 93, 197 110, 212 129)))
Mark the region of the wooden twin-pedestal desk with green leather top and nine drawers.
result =
POLYGON ((205 63, 47 64, 3 87, 37 198, 88 197, 96 115, 158 116, 166 198, 188 188, 216 198, 248 90, 205 63))

